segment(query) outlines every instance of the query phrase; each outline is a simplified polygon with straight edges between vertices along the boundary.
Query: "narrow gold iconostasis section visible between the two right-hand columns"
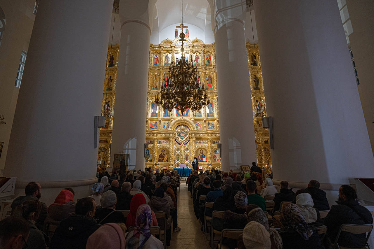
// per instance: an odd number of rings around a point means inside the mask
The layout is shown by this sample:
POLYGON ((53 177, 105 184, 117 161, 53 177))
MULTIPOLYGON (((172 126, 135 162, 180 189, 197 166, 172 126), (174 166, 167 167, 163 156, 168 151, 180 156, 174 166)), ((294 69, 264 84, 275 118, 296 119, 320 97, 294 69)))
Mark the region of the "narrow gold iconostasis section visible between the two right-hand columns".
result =
MULTIPOLYGON (((258 52, 258 44, 246 43, 247 57, 248 57, 248 72, 249 79, 251 80, 251 98, 252 98, 252 110, 255 111, 255 107, 258 103, 266 106, 265 95, 264 95, 264 82, 261 71, 261 60, 258 52)), ((268 171, 272 171, 270 165, 272 159, 270 156, 270 144, 269 144, 269 129, 262 127, 261 117, 253 117, 254 128, 255 128, 255 143, 257 144, 257 164, 259 166, 266 166, 268 171)))

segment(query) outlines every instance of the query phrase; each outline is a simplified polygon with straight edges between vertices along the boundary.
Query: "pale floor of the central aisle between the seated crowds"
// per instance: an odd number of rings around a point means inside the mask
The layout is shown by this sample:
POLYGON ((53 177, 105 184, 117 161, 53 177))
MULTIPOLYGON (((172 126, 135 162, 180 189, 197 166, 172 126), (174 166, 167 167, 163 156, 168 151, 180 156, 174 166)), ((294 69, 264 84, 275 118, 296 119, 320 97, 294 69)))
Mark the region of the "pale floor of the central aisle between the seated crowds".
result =
POLYGON ((181 231, 171 235, 170 249, 209 249, 209 241, 200 231, 199 221, 193 212, 193 203, 186 181, 181 180, 181 190, 177 192, 178 227, 181 231))

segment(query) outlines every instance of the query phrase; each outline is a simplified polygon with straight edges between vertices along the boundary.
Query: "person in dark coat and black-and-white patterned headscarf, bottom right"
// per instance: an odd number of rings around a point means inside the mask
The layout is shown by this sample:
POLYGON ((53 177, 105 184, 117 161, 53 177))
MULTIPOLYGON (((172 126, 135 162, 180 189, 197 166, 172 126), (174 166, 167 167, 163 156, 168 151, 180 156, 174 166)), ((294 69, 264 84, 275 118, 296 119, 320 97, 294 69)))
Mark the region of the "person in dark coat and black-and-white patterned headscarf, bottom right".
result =
POLYGON ((287 203, 282 208, 285 226, 279 230, 284 249, 322 249, 324 246, 317 229, 308 225, 300 209, 294 203, 287 203))

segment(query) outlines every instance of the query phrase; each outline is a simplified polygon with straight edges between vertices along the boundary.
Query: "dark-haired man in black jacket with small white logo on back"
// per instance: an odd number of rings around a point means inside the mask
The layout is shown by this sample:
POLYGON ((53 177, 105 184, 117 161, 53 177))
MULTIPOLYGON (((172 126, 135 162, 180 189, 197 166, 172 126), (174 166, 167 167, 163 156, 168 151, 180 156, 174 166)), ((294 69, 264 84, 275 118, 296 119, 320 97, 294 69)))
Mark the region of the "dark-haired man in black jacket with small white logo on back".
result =
POLYGON ((96 203, 91 197, 80 199, 75 205, 75 215, 61 221, 52 237, 49 248, 85 249, 88 237, 100 225, 93 219, 96 203))

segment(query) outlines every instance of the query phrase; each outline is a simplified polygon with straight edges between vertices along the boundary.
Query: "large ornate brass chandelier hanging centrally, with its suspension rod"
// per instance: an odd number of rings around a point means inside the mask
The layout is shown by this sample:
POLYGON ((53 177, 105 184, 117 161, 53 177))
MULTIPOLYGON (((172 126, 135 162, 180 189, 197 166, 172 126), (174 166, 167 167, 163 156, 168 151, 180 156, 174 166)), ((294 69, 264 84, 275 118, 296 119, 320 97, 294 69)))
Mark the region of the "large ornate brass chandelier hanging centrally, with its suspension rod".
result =
POLYGON ((182 0, 182 23, 181 23, 181 34, 178 41, 182 42, 181 57, 174 62, 173 58, 171 65, 169 66, 170 77, 164 82, 160 89, 159 94, 155 96, 157 106, 162 106, 164 112, 166 110, 172 111, 173 108, 180 110, 181 112, 186 111, 190 108, 190 111, 194 113, 202 108, 209 105, 209 97, 206 94, 205 87, 202 82, 199 83, 197 79, 197 67, 193 66, 192 58, 190 61, 184 56, 183 41, 186 35, 183 33, 183 0, 182 0))

